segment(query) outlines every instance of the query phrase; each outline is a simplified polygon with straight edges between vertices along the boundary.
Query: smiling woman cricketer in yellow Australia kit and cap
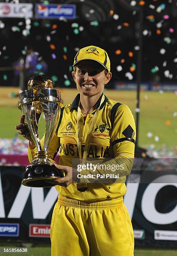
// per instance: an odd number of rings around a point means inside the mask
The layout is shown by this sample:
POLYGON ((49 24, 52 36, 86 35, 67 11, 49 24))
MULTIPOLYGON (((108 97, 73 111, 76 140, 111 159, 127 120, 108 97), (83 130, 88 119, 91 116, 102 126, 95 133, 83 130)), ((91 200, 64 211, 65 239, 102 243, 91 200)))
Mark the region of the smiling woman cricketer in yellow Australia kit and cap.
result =
MULTIPOLYGON (((110 60, 104 49, 80 49, 74 58, 72 76, 78 95, 61 109, 58 128, 49 146, 53 158, 60 148, 56 167, 66 173, 53 181, 59 196, 51 221, 52 256, 133 256, 134 233, 123 202, 126 175, 131 172, 134 159, 133 115, 126 105, 108 99, 103 93, 111 79, 110 60), (110 183, 101 179, 88 182, 87 176, 81 174, 78 179, 73 172, 73 159, 81 159, 83 164, 90 158, 111 159, 106 165, 124 159, 126 172, 117 179, 111 177, 110 183), (75 175, 77 179, 73 182, 75 175)), ((21 123, 18 133, 29 139, 32 161, 36 148, 24 121, 21 123)), ((104 175, 106 171, 97 168, 96 174, 104 175)))

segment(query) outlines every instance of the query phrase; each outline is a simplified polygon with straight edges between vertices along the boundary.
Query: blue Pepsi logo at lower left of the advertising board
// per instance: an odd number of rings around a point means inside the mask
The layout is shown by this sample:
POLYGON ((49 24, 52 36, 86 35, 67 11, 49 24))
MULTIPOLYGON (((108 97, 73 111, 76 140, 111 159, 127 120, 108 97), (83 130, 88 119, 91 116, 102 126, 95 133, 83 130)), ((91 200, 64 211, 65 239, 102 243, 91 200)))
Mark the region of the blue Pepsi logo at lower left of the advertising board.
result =
POLYGON ((0 236, 19 236, 19 224, 0 223, 0 236))

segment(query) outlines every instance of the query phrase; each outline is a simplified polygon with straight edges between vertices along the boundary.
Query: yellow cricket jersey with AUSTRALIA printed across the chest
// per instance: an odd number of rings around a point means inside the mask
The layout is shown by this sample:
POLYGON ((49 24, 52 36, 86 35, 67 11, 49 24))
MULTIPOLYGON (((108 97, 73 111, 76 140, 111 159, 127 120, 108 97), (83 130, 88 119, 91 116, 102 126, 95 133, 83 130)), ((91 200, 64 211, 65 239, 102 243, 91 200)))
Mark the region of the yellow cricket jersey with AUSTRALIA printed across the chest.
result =
MULTIPOLYGON (((101 97, 94 106, 99 108, 101 97)), ((77 109, 80 100, 80 94, 76 96, 72 104, 66 105, 61 109, 59 125, 54 134, 48 150, 51 157, 54 158, 60 149, 59 164, 72 166, 72 160, 78 158, 77 148, 77 109)), ((81 154, 83 155, 84 145, 91 120, 94 117, 94 110, 83 120, 81 115, 81 154)), ((92 130, 87 151, 87 159, 104 158, 134 158, 134 141, 136 138, 136 128, 133 115, 127 105, 121 104, 105 96, 101 104, 94 128, 92 130)), ((41 140, 43 145, 43 139, 41 140)), ((28 150, 29 160, 32 161, 36 148, 28 150)), ((132 166, 130 166, 129 173, 132 166)), ((68 187, 57 185, 56 189, 60 195, 76 200, 100 201, 110 200, 124 196, 126 193, 126 177, 121 179, 122 183, 88 183, 88 188, 84 192, 78 191, 76 183, 68 187)))

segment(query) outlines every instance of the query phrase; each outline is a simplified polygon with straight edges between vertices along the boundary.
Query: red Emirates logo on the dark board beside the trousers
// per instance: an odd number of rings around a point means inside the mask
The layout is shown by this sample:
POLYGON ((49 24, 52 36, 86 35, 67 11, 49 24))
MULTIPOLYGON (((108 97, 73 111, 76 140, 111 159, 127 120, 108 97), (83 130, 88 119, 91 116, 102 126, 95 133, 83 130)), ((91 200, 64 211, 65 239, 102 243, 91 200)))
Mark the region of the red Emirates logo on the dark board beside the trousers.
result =
POLYGON ((48 224, 30 224, 29 236, 30 237, 49 237, 50 238, 51 225, 48 224))

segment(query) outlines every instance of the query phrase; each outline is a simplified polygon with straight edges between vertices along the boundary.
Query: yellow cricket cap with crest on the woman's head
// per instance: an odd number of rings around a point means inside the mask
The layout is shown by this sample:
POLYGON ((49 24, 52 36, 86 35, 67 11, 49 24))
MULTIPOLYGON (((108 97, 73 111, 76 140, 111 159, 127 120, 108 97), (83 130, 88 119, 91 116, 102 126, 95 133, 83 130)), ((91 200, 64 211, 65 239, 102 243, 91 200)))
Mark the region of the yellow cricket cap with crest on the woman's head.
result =
POLYGON ((91 59, 99 62, 105 69, 110 72, 110 59, 108 57, 108 54, 104 49, 101 49, 97 46, 87 46, 78 51, 74 58, 74 64, 73 67, 80 61, 84 59, 91 59))

